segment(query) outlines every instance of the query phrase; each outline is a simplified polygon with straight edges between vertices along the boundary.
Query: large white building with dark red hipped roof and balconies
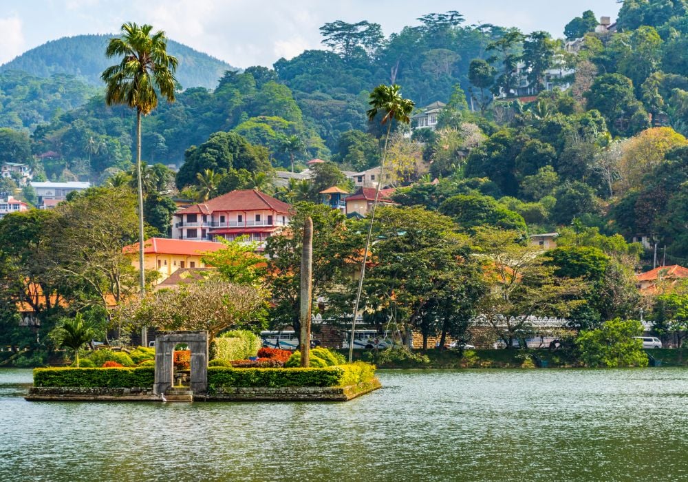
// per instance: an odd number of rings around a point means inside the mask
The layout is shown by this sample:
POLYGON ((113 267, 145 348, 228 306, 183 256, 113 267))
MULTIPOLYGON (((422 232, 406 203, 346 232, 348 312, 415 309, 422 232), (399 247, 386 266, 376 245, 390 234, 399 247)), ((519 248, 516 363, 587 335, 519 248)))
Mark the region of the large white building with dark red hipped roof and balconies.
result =
POLYGON ((178 240, 235 240, 246 236, 264 249, 270 236, 289 225, 292 207, 256 189, 238 189, 174 213, 178 240))

